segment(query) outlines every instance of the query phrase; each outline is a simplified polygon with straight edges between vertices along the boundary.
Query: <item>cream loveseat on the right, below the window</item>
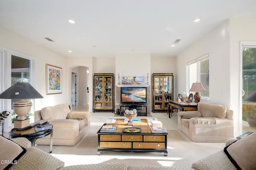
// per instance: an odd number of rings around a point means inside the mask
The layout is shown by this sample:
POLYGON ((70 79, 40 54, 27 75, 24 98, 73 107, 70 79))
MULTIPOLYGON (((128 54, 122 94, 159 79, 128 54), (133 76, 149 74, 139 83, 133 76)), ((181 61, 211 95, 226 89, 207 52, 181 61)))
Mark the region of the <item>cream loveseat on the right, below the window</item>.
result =
POLYGON ((198 111, 178 114, 178 129, 194 142, 226 142, 234 137, 233 111, 225 106, 198 103, 198 111))

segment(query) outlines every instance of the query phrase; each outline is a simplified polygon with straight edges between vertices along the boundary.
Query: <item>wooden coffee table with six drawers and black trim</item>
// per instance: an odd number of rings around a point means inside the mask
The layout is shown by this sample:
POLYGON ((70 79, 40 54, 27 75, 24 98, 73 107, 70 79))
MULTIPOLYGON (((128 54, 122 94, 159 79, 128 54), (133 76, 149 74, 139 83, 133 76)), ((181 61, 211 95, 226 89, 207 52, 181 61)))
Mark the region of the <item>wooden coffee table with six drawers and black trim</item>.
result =
POLYGON ((100 132, 98 130, 98 150, 97 154, 106 151, 115 152, 167 152, 167 132, 152 133, 147 120, 141 119, 141 123, 134 123, 133 127, 141 128, 142 131, 138 133, 122 132, 125 127, 131 127, 124 122, 124 119, 116 119, 114 124, 118 127, 117 132, 100 132))

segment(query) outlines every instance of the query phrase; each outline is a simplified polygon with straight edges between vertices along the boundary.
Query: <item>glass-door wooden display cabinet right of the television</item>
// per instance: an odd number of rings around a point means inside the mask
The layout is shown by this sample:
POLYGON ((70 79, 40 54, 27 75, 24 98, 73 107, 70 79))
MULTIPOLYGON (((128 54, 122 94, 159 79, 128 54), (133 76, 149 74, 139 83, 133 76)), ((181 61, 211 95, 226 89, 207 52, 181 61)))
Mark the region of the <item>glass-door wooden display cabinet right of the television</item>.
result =
POLYGON ((152 74, 152 112, 166 112, 173 100, 173 73, 152 74))

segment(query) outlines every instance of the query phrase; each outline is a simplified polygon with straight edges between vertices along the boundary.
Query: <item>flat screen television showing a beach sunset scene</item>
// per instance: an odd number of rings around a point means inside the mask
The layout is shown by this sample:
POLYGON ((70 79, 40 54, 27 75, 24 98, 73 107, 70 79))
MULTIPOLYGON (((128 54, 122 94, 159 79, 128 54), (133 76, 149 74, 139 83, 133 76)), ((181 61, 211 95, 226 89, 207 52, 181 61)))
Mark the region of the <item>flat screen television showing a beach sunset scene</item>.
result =
POLYGON ((121 103, 147 103, 147 88, 121 87, 121 103))

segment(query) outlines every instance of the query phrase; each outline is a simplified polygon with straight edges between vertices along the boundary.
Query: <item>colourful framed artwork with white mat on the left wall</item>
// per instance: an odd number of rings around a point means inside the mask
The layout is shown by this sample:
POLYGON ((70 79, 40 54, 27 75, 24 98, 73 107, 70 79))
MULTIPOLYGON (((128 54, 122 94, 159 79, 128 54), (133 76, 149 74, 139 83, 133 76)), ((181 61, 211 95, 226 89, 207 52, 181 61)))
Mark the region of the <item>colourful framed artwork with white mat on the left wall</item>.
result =
POLYGON ((46 64, 46 95, 62 93, 62 68, 46 64))

